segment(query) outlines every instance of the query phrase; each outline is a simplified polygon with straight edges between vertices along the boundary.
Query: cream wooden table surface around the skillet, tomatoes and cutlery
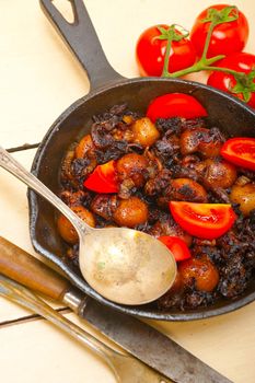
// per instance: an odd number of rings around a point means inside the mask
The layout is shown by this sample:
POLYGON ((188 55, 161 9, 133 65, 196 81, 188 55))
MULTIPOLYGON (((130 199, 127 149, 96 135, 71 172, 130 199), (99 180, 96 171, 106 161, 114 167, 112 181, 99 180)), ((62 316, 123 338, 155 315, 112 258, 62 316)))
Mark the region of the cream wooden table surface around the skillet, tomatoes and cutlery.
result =
MULTIPOLYGON (((109 62, 126 77, 138 74, 134 50, 141 31, 159 23, 178 23, 189 28, 201 9, 216 2, 85 1, 109 62)), ((246 50, 255 53, 255 3, 239 0, 235 4, 248 16, 251 37, 246 50)), ((0 142, 8 149, 34 144, 66 107, 88 93, 89 82, 44 18, 38 1, 1 1, 0 28, 0 142)), ((35 149, 14 152, 27 169, 34 154, 35 149)), ((0 185, 0 234, 34 254, 26 188, 3 170, 0 185)), ((73 314, 67 315, 79 323, 73 314)), ((235 383, 253 383, 254 320, 252 303, 207 321, 151 324, 235 383)), ((0 299, 0 375, 4 383, 115 381, 89 350, 4 299, 0 299)))

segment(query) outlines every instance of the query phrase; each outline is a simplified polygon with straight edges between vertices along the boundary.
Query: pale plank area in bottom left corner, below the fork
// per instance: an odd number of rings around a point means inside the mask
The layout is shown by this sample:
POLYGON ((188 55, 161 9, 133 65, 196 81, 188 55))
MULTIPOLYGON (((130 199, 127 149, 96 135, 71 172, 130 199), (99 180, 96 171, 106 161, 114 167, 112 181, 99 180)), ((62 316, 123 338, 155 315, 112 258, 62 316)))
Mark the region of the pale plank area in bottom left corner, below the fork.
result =
POLYGON ((46 321, 1 328, 0 341, 2 382, 115 382, 100 358, 46 321))

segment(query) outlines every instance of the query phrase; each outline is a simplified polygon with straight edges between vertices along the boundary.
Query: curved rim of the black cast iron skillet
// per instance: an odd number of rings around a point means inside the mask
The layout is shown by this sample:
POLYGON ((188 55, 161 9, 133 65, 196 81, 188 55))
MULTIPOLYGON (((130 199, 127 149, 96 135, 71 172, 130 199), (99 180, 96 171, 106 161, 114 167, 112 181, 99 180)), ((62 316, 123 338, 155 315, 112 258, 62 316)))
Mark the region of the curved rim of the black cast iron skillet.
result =
MULTIPOLYGON (((190 94, 194 94, 197 89, 206 89, 210 90, 215 94, 219 94, 223 96, 227 100, 231 100, 231 102, 236 105, 241 106, 243 109, 246 109, 251 115, 254 116, 255 119, 255 112, 245 105, 242 101, 237 100, 236 97, 233 97, 229 95, 228 93, 221 92, 215 88, 204 85, 198 82, 194 81, 186 81, 181 79, 162 79, 162 78, 135 78, 135 79, 127 79, 127 80, 120 80, 117 82, 112 82, 105 86, 102 86, 95 91, 90 92, 88 95, 79 98, 73 104, 71 104, 51 125, 51 127, 46 132, 45 137, 42 140, 42 143, 39 144, 33 164, 32 164, 32 173, 37 176, 39 173, 39 165, 40 160, 44 154, 45 147, 47 146, 47 142, 50 141, 51 136, 56 130, 59 129, 59 126, 62 124, 62 121, 79 106, 81 106, 83 103, 89 101, 90 98, 96 96, 97 94, 105 92, 106 90, 111 90, 113 88, 117 86, 125 86, 130 83, 136 82, 175 82, 175 83, 182 83, 182 84, 189 84, 194 88, 194 91, 190 92, 190 94)), ((230 313, 234 310, 237 310, 255 300, 255 291, 250 293, 246 297, 241 297, 237 300, 230 301, 228 304, 222 305, 220 307, 205 307, 205 311, 196 312, 196 311, 189 311, 189 312, 183 312, 183 313, 164 313, 164 312, 154 312, 154 311, 147 311, 142 309, 142 306, 127 306, 127 305, 120 305, 116 304, 112 301, 108 301, 104 299, 102 295, 96 293, 91 287, 89 287, 86 283, 84 283, 83 279, 80 278, 73 270, 71 270, 58 256, 49 253, 47 249, 40 246, 36 239, 36 221, 38 218, 38 205, 37 205, 37 196, 34 192, 28 190, 27 194, 28 197, 28 207, 30 207, 30 235, 31 241, 33 244, 33 247, 37 253, 39 253, 42 256, 50 260, 53 264, 55 264, 60 270, 63 271, 63 274, 71 280, 73 285, 76 285, 80 290, 82 290, 84 293, 90 295, 91 298, 97 300, 100 303, 109 305, 114 310, 124 312, 126 314, 136 315, 143 318, 149 320, 158 320, 158 321, 172 321, 172 322, 186 322, 186 321, 194 321, 194 320, 204 320, 209 318, 212 316, 218 316, 222 314, 230 313)))

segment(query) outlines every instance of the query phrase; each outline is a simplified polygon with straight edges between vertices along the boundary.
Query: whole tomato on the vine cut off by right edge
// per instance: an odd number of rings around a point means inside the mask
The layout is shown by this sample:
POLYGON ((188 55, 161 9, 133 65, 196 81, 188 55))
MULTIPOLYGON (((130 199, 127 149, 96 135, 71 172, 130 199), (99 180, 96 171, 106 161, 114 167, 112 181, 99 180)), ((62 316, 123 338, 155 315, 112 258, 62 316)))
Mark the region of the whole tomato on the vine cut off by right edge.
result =
MULTIPOLYGON (((218 61, 217 67, 229 68, 247 74, 255 69, 255 56, 239 51, 218 61)), ((207 84, 231 93, 241 100, 244 100, 244 94, 242 91, 240 91, 240 93, 232 91, 236 85, 236 80, 233 74, 225 72, 212 72, 207 80, 207 84)), ((251 83, 246 84, 246 86, 243 85, 243 89, 250 92, 250 100, 247 104, 252 107, 255 107, 255 73, 253 76, 253 79, 251 79, 251 83)))

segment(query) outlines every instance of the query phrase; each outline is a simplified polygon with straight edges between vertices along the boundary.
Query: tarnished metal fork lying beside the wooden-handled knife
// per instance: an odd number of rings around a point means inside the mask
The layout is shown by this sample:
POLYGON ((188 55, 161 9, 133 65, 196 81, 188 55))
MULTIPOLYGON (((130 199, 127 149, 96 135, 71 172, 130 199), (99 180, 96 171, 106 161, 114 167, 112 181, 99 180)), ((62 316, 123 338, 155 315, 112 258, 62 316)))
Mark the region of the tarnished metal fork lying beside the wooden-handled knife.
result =
POLYGON ((67 320, 50 307, 40 298, 22 285, 0 275, 0 295, 19 303, 32 312, 44 316, 58 328, 62 329, 83 346, 89 347, 105 360, 115 374, 116 381, 121 383, 173 383, 159 372, 140 362, 138 359, 120 353, 86 333, 84 329, 67 320))

